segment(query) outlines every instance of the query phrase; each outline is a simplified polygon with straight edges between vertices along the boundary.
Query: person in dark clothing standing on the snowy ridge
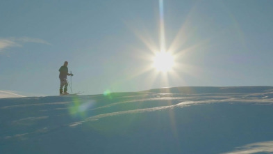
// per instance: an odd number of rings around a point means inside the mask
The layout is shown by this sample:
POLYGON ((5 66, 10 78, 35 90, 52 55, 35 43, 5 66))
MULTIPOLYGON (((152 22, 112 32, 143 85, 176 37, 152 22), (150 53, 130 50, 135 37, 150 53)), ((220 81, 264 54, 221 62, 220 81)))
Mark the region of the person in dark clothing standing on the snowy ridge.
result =
POLYGON ((69 93, 67 93, 67 75, 71 75, 73 76, 73 74, 69 74, 68 73, 68 68, 67 68, 68 62, 65 61, 65 63, 63 64, 63 66, 60 67, 59 72, 59 78, 60 78, 60 95, 67 95, 69 93), (63 86, 65 86, 65 88, 63 89, 63 86), (64 90, 64 91, 63 91, 64 90))

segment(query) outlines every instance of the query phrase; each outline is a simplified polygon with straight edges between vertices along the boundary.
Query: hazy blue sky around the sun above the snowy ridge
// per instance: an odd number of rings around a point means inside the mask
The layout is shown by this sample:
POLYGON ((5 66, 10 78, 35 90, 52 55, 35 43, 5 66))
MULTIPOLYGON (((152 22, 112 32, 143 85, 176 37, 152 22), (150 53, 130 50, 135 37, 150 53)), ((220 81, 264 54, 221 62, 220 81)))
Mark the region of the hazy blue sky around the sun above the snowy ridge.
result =
POLYGON ((0 1, 0 90, 58 95, 272 86, 273 1, 0 1), (167 72, 157 52, 174 57, 167 72))

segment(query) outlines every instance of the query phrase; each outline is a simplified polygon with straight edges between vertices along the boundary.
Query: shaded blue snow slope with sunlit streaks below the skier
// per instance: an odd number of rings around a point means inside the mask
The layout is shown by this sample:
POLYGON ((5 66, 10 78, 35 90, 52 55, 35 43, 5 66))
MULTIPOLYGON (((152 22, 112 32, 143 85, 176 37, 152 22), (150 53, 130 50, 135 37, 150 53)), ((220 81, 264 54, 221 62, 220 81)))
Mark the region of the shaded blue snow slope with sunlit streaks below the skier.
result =
POLYGON ((0 99, 0 153, 273 153, 273 87, 0 99))

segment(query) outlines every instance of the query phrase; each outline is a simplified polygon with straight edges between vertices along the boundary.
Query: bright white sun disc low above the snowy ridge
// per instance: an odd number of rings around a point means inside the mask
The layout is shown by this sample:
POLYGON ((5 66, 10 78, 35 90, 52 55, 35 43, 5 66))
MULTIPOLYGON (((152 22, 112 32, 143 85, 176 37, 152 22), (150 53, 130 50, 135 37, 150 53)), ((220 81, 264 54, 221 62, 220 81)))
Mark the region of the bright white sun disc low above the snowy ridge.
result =
POLYGON ((168 72, 174 66, 174 56, 169 52, 158 52, 154 56, 154 68, 160 72, 168 72))

